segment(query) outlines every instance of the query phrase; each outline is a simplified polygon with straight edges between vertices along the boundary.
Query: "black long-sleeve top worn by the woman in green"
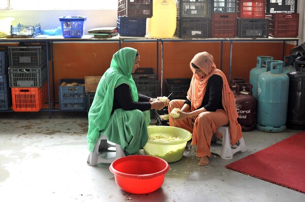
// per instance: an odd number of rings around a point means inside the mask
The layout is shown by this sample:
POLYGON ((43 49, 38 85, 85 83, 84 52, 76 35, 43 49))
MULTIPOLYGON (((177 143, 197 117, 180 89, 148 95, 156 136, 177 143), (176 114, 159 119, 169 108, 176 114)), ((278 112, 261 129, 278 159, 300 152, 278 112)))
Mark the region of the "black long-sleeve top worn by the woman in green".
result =
POLYGON ((139 101, 135 102, 131 98, 130 89, 127 84, 121 84, 114 89, 114 99, 111 113, 115 109, 122 108, 124 110, 139 109, 141 111, 149 110, 151 104, 149 102, 150 97, 139 94, 139 101))

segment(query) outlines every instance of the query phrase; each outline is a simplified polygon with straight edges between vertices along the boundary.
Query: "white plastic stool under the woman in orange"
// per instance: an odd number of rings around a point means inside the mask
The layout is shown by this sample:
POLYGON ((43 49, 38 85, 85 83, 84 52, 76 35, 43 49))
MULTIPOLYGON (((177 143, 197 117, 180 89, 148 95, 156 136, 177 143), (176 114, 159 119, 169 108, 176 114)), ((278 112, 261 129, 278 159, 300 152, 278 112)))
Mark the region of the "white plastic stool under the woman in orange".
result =
MULTIPOLYGON (((229 126, 221 126, 217 129, 218 132, 223 134, 222 146, 215 147, 211 145, 211 153, 216 153, 220 155, 223 159, 232 159, 233 155, 238 152, 245 152, 247 151, 245 140, 241 137, 237 144, 232 146, 230 141, 230 133, 229 133, 229 126)), ((219 141, 217 141, 218 143, 219 141)))

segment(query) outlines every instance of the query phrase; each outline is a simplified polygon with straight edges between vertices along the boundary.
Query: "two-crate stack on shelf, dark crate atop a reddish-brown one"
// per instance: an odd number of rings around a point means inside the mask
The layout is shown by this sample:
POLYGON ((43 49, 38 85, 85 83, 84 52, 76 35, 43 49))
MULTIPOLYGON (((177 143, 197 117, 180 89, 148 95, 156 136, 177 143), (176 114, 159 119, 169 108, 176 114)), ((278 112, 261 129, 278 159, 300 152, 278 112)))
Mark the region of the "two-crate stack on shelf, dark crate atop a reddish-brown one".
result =
POLYGON ((237 0, 213 0, 211 12, 211 37, 235 37, 237 0))

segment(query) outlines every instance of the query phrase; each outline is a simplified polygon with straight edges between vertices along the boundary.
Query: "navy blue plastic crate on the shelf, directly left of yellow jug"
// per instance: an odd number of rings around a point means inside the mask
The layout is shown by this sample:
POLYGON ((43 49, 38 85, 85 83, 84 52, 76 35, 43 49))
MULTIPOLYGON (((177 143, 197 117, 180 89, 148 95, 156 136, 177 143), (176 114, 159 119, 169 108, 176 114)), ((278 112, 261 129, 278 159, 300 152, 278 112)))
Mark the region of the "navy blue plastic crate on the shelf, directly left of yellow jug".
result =
POLYGON ((146 18, 117 17, 117 32, 120 36, 145 36, 146 18))

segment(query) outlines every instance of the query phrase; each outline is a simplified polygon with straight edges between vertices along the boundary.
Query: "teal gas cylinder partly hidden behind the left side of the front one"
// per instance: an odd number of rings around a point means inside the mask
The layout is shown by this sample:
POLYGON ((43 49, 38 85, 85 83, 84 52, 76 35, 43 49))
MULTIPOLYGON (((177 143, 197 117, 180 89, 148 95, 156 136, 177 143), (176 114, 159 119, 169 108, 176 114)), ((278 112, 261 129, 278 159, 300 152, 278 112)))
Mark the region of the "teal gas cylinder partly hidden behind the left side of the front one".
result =
POLYGON ((249 84, 253 86, 252 93, 255 98, 257 98, 257 80, 258 75, 266 71, 266 61, 273 60, 270 56, 257 56, 256 67, 251 69, 249 76, 249 84))

